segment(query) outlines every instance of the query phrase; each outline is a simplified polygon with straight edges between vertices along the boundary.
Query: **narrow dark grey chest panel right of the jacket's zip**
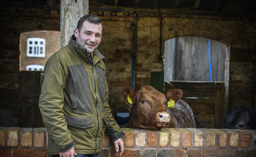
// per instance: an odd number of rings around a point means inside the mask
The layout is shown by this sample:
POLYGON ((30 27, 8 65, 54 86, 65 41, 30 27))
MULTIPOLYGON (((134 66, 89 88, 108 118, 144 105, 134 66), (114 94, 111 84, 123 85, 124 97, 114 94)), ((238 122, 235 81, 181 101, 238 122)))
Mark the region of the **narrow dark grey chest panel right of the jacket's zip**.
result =
POLYGON ((105 69, 96 65, 96 76, 97 76, 97 88, 100 95, 101 109, 105 112, 104 101, 105 101, 105 69))

